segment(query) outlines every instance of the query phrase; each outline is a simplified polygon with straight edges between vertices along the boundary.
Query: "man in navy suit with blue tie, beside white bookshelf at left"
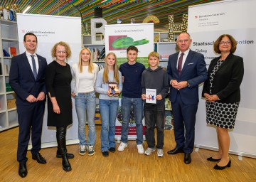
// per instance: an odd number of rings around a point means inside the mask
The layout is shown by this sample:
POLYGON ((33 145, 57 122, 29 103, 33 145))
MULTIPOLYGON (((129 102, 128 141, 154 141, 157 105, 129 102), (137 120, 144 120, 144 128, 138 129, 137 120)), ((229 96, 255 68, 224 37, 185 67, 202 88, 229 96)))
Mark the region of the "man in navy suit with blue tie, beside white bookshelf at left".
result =
POLYGON ((26 33, 23 44, 26 52, 11 59, 9 84, 16 92, 16 106, 18 112, 18 174, 26 177, 26 157, 28 141, 31 136, 32 159, 40 164, 46 164, 41 156, 41 133, 43 113, 46 101, 46 58, 36 54, 37 37, 33 33, 26 33))

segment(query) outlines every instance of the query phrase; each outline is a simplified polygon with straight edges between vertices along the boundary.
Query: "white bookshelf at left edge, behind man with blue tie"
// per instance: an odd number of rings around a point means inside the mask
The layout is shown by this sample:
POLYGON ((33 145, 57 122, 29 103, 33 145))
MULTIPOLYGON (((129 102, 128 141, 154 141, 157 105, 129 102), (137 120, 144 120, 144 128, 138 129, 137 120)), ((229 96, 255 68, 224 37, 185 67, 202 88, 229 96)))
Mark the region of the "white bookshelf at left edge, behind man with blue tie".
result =
POLYGON ((9 47, 16 48, 18 54, 18 29, 15 21, 0 19, 0 132, 18 126, 18 114, 15 107, 8 108, 7 102, 14 100, 14 91, 6 91, 9 83, 9 70, 11 57, 4 57, 3 49, 7 52, 9 47))

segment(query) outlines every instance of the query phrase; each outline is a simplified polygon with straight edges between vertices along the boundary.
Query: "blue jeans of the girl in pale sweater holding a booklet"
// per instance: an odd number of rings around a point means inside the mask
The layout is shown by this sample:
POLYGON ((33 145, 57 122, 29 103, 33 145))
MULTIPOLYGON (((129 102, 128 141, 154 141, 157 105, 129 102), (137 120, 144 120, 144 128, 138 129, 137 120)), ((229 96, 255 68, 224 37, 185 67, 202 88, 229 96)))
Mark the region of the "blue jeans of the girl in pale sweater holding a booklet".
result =
POLYGON ((117 117, 118 100, 100 100, 101 127, 101 150, 109 151, 115 147, 114 134, 117 117))

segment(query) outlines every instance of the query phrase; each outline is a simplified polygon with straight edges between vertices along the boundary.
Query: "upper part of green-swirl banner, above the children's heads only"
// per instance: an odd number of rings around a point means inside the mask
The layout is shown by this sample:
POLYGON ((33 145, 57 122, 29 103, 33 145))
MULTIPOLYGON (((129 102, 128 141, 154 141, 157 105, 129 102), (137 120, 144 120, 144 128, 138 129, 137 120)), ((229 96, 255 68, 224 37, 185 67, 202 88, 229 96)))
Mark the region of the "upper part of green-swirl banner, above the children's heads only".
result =
POLYGON ((127 48, 138 48, 137 62, 148 67, 147 56, 154 51, 154 23, 105 25, 106 55, 114 52, 118 65, 127 62, 127 48))

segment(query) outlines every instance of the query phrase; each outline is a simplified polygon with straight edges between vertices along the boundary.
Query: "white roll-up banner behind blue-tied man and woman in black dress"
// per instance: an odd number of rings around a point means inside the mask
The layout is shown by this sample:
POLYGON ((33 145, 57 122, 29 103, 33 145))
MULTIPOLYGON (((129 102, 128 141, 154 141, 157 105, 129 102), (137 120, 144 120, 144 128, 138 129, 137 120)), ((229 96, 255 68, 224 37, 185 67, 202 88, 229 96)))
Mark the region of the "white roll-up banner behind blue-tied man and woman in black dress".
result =
MULTIPOLYGON (((55 43, 65 41, 70 45, 71 58, 68 64, 73 65, 79 60, 82 47, 81 41, 81 18, 68 16, 48 16, 38 14, 17 14, 19 53, 25 51, 23 36, 32 32, 38 38, 36 53, 46 58, 48 64, 53 61, 51 49, 55 43), (33 22, 33 23, 31 23, 33 22), (70 36, 72 35, 72 36, 70 36)), ((73 100, 73 103, 75 101, 73 100)), ((55 127, 47 126, 47 103, 43 117, 42 147, 56 146, 55 127)), ((73 124, 67 130, 67 144, 78 143, 78 119, 73 107, 73 124)), ((29 146, 31 147, 31 146, 29 146)))

